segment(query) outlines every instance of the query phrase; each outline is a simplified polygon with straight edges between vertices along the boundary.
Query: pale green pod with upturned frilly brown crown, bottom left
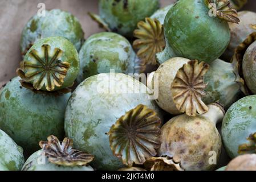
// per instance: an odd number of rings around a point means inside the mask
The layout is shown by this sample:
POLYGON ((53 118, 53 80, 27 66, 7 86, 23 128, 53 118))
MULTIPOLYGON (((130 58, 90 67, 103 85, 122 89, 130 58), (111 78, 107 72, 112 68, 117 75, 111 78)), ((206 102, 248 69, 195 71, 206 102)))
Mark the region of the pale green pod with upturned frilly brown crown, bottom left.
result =
POLYGON ((64 138, 62 144, 54 135, 48 142, 39 143, 42 150, 27 159, 22 171, 94 171, 88 163, 94 156, 72 149, 72 140, 64 138))

